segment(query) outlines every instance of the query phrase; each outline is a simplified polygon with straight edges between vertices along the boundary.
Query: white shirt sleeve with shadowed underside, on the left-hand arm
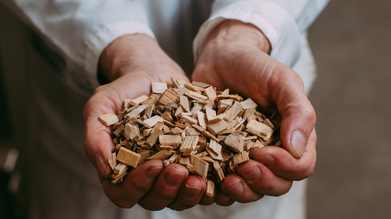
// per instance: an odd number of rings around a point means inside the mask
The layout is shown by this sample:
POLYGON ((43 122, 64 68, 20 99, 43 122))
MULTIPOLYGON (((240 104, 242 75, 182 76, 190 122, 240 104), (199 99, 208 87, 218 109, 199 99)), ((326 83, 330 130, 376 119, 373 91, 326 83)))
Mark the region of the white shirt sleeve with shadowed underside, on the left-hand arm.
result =
POLYGON ((96 85, 98 59, 114 39, 133 33, 155 38, 143 5, 131 0, 0 0, 30 23, 96 85))

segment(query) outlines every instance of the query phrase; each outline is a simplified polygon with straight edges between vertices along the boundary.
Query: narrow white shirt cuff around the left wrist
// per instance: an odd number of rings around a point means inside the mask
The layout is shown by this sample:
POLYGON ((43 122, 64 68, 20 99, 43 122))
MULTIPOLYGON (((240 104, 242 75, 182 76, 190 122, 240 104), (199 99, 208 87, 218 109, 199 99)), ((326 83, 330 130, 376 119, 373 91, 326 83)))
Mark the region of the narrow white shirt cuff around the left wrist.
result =
POLYGON ((128 34, 146 34, 156 39, 149 26, 135 21, 121 21, 101 28, 95 35, 87 41, 84 70, 88 74, 88 80, 93 87, 99 86, 97 79, 97 69, 100 54, 112 41, 128 34))

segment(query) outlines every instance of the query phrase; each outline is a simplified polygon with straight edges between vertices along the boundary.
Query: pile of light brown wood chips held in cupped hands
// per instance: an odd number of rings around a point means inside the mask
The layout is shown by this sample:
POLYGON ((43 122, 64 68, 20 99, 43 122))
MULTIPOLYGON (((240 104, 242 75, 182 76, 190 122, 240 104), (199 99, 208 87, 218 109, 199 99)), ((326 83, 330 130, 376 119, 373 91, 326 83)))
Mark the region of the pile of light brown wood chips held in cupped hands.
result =
POLYGON ((145 160, 161 159, 203 177, 206 194, 213 196, 215 183, 236 172, 254 150, 281 145, 277 110, 268 117, 251 98, 229 89, 171 80, 169 88, 152 82, 150 96, 125 99, 123 111, 99 116, 106 126, 113 125, 110 182, 121 182, 131 167, 145 160))

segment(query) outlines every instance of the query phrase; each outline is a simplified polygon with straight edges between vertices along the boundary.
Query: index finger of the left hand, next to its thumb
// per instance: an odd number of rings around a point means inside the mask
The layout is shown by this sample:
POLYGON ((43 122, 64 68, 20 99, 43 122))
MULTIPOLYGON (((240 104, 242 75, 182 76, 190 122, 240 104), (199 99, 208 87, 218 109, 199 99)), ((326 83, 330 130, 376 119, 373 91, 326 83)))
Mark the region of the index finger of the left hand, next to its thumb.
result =
POLYGON ((103 181, 103 189, 113 203, 120 207, 133 207, 149 190, 164 168, 161 160, 148 160, 129 171, 123 182, 112 184, 103 181))

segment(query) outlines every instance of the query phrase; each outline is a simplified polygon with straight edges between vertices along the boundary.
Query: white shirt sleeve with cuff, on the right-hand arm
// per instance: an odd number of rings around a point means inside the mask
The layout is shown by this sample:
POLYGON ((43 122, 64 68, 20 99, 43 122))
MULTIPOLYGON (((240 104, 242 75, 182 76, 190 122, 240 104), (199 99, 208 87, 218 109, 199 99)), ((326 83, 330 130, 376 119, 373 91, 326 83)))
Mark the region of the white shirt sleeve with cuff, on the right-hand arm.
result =
POLYGON ((271 56, 292 66, 301 50, 301 35, 329 0, 216 0, 210 18, 193 41, 193 53, 201 54, 209 33, 226 19, 256 25, 269 39, 271 56))

